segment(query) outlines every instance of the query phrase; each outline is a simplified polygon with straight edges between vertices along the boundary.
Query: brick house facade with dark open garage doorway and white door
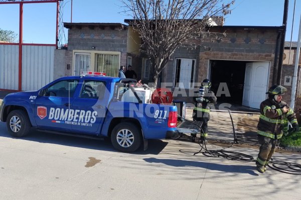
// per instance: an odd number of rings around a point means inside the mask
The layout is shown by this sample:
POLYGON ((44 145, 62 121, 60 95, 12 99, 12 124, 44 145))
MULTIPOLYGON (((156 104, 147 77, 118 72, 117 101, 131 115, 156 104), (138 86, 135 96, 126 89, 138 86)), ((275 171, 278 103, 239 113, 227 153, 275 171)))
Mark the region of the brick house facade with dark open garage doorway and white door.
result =
MULTIPOLYGON (((282 28, 212 26, 211 32, 224 32, 226 36, 204 38, 197 49, 178 48, 163 77, 166 82, 173 81, 173 88, 185 89, 187 93, 192 93, 203 79, 209 78, 219 102, 259 108, 268 87, 276 83, 275 52, 279 45, 277 35, 282 28)), ((192 101, 191 96, 177 98, 192 101)))

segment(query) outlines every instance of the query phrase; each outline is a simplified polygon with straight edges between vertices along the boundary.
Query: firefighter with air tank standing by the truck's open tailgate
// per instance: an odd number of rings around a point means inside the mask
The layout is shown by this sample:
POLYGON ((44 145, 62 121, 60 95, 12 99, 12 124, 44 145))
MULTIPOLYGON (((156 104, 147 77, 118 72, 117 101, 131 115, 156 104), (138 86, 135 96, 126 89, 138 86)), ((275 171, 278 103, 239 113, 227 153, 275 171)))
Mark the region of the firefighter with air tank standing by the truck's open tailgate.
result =
MULTIPOLYGON (((203 121, 200 140, 206 142, 208 136, 208 121, 210 119, 210 106, 212 103, 216 103, 216 96, 211 91, 211 82, 209 79, 204 79, 202 85, 199 88, 198 96, 194 97, 195 108, 193 110, 193 120, 203 121)), ((192 140, 196 139, 196 134, 191 134, 192 140)))

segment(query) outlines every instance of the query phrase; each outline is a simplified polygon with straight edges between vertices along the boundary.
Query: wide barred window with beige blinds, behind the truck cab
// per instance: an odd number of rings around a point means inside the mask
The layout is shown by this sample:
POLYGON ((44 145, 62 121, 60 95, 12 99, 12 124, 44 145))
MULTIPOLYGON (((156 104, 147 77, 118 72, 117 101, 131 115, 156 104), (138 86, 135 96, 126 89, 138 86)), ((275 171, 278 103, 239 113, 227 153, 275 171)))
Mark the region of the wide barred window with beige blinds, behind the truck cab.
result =
POLYGON ((104 72, 107 76, 118 76, 119 71, 119 54, 100 54, 97 53, 96 59, 96 71, 104 72))

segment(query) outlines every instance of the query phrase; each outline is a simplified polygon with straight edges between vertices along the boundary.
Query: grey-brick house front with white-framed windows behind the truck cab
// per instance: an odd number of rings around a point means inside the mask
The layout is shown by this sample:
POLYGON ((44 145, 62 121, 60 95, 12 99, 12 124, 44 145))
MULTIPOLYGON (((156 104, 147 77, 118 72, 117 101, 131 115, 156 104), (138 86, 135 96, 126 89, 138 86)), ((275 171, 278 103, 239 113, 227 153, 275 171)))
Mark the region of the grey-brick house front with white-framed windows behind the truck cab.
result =
POLYGON ((138 70, 139 46, 128 42, 131 27, 122 23, 64 23, 64 27, 69 29, 65 75, 100 71, 118 76, 120 65, 129 64, 138 70))

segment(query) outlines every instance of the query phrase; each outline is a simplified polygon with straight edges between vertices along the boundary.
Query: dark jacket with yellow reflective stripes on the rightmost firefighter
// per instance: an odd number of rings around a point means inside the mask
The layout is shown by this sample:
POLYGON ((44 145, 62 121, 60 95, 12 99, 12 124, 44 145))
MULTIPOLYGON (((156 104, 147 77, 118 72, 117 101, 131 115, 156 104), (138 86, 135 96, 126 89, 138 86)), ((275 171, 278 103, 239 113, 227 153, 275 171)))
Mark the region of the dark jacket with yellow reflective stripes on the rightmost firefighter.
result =
POLYGON ((270 97, 260 104, 260 116, 257 125, 257 133, 273 139, 282 137, 282 129, 284 123, 289 121, 291 124, 296 123, 297 119, 293 110, 286 102, 276 102, 273 97, 270 97), (283 112, 283 107, 287 107, 287 112, 283 112))

